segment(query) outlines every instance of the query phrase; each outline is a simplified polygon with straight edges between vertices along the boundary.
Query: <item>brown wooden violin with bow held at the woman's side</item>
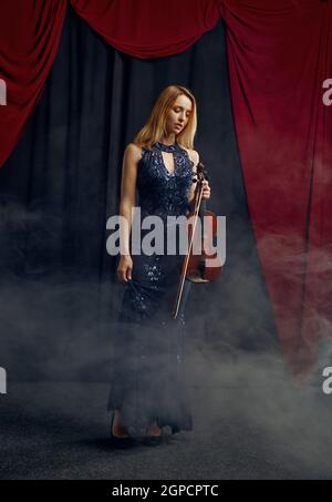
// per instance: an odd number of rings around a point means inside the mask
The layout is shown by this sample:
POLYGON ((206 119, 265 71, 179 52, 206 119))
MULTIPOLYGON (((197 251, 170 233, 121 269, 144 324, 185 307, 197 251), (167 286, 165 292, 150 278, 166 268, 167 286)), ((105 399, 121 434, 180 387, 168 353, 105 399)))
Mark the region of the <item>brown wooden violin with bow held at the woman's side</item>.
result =
POLYGON ((201 198, 204 181, 208 181, 207 171, 201 162, 197 165, 195 188, 194 209, 187 214, 188 223, 188 253, 186 254, 181 267, 181 274, 178 281, 176 299, 173 309, 173 319, 177 318, 185 280, 188 279, 195 284, 205 284, 216 280, 222 273, 221 257, 212 249, 217 238, 217 216, 215 213, 206 209, 206 201, 201 198), (206 217, 209 219, 208 228, 206 227, 206 217), (197 225, 198 219, 200 225, 197 225), (199 228, 201 235, 198 234, 199 228), (199 254, 194 254, 194 243, 199 243, 199 254), (214 266, 209 265, 214 260, 214 266))

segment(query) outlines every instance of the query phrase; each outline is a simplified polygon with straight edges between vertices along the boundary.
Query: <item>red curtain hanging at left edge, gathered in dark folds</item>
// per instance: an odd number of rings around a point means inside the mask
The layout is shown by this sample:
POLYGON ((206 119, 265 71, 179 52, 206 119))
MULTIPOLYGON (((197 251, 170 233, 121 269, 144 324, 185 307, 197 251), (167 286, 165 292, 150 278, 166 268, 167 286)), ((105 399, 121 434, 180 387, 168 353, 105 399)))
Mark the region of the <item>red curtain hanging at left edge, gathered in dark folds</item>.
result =
POLYGON ((11 0, 0 4, 0 166, 19 142, 41 98, 58 52, 66 0, 11 0))

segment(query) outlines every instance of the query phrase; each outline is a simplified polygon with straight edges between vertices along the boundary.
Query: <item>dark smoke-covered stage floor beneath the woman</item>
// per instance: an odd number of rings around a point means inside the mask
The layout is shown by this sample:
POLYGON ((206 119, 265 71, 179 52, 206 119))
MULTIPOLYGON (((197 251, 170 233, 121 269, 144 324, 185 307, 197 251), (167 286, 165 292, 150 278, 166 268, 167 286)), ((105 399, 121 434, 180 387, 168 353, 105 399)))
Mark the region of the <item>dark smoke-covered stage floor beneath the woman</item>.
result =
POLYGON ((107 383, 9 382, 0 396, 0 478, 332 478, 332 397, 317 387, 191 387, 193 432, 126 450, 107 436, 107 383))

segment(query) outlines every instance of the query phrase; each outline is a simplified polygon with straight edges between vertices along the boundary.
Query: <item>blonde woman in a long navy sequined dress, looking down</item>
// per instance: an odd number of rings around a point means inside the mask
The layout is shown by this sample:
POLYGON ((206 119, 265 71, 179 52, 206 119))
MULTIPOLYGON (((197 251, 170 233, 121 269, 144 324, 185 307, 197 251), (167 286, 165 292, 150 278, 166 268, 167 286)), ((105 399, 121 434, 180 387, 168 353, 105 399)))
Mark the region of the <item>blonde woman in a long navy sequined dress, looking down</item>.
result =
MULTIPOLYGON (((180 85, 166 88, 148 122, 124 153, 120 214, 128 223, 122 229, 124 248, 117 275, 125 284, 118 318, 108 412, 113 438, 142 431, 158 438, 162 428, 191 430, 191 413, 184 373, 184 306, 172 318, 184 256, 167 254, 167 216, 186 215, 195 196, 198 153, 193 150, 197 126, 196 100, 180 85), (138 192, 141 218, 158 216, 164 225, 165 254, 132 256, 132 208, 138 192)), ((203 198, 210 197, 205 182, 203 198)), ((151 229, 149 229, 151 230, 151 229)), ((142 230, 141 238, 146 235, 142 230)), ((186 281, 185 297, 191 283, 186 281)))

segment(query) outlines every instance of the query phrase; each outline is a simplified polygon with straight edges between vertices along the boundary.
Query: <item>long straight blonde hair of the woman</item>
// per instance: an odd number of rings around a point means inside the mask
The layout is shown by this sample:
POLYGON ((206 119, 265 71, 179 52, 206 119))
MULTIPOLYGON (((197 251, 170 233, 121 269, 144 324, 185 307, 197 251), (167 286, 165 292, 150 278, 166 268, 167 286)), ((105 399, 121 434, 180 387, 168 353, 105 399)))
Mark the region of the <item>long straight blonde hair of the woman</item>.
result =
POLYGON ((193 110, 186 127, 176 135, 176 141, 181 146, 194 148, 194 137, 197 129, 197 105, 194 94, 181 85, 168 85, 157 98, 147 123, 136 134, 134 143, 142 147, 151 148, 160 141, 166 133, 166 117, 179 95, 186 95, 191 101, 193 110))

